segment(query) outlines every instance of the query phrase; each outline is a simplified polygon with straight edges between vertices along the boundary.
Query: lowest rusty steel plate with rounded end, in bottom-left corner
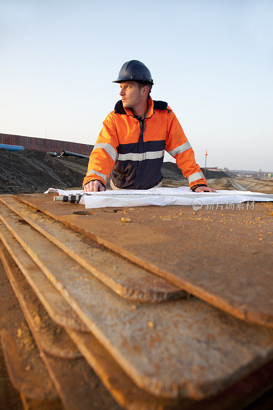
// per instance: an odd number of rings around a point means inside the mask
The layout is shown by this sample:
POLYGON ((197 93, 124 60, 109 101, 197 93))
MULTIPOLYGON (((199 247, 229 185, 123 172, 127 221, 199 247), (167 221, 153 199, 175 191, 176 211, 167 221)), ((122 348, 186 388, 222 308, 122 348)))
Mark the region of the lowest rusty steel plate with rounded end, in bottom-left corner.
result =
POLYGON ((58 395, 0 262, 1 344, 10 380, 26 397, 56 400, 58 395))

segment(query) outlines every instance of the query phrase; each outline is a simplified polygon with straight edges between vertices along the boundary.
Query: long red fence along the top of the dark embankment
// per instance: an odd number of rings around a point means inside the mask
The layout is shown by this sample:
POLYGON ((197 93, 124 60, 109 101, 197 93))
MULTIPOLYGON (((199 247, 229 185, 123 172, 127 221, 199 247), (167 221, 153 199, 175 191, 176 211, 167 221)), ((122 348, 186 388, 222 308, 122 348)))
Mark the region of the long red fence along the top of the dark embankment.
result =
POLYGON ((0 133, 0 144, 21 145, 26 150, 60 152, 62 150, 90 155, 93 145, 79 144, 78 142, 59 141, 56 139, 24 137, 0 133))

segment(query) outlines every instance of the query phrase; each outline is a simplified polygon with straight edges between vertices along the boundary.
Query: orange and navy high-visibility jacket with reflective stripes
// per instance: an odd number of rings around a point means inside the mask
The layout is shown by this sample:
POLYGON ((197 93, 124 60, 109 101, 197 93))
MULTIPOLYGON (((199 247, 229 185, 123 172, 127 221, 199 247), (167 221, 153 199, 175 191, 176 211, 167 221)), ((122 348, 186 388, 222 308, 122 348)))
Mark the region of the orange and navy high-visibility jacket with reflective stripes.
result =
POLYGON ((192 189, 206 186, 194 151, 172 109, 151 97, 148 105, 148 114, 141 120, 130 109, 124 109, 121 100, 117 102, 115 110, 103 121, 83 186, 92 180, 105 186, 111 173, 117 188, 152 188, 162 180, 164 150, 176 159, 192 189))

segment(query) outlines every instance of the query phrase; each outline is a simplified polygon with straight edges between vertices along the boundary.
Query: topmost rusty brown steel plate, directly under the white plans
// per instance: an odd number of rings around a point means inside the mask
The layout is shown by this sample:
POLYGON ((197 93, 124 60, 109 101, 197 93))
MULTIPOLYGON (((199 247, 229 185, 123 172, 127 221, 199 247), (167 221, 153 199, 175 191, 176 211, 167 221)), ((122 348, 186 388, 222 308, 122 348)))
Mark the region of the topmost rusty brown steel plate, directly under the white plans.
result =
POLYGON ((182 206, 125 208, 131 222, 122 223, 102 209, 75 215, 81 206, 52 195, 16 198, 234 316, 273 326, 272 203, 195 214, 182 206))

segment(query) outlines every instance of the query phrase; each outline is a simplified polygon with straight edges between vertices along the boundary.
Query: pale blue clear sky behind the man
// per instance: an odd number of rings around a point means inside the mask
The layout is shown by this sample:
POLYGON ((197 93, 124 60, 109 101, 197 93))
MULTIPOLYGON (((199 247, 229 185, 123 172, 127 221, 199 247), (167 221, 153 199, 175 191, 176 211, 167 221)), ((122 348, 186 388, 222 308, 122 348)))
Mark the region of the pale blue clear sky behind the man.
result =
POLYGON ((272 21, 273 0, 0 0, 0 133, 95 144, 138 59, 200 166, 273 171, 272 21))

